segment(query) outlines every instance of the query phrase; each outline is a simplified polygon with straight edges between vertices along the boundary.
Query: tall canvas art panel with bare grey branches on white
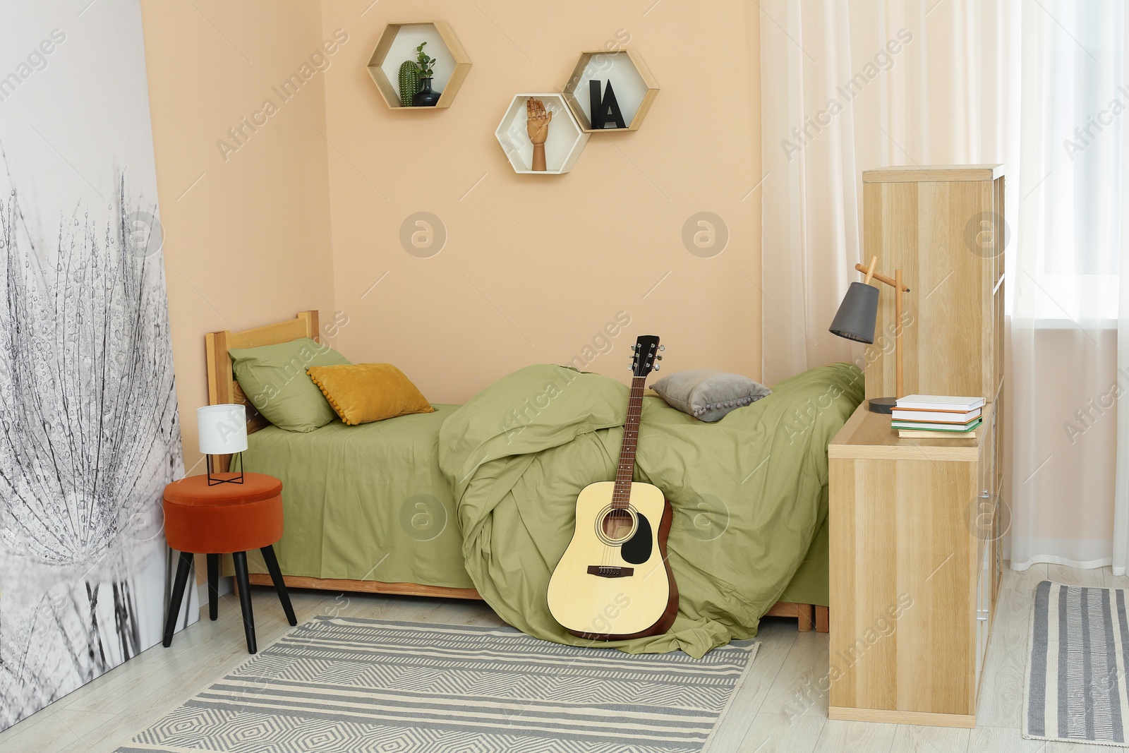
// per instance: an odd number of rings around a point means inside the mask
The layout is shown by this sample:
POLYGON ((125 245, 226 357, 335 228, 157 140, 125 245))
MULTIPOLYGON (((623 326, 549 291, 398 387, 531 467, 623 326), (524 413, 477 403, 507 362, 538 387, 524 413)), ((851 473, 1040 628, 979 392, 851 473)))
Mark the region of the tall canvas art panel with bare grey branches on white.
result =
POLYGON ((184 469, 140 5, 0 5, 5 728, 160 639, 184 469))

